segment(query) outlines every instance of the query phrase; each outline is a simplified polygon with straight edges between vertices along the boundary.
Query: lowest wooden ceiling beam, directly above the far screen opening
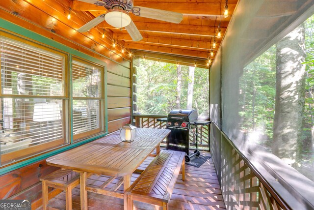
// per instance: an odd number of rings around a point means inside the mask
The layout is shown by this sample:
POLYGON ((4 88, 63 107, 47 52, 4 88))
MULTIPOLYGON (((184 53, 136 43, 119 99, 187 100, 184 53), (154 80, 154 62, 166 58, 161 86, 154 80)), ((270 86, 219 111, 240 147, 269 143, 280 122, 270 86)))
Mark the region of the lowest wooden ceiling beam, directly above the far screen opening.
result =
POLYGON ((187 65, 187 66, 194 66, 195 64, 197 67, 200 68, 209 68, 207 66, 208 60, 207 59, 192 59, 182 56, 175 56, 175 55, 167 55, 164 53, 153 53, 153 52, 147 52, 147 51, 138 51, 136 50, 134 52, 134 56, 139 58, 145 58, 148 60, 156 60, 160 62, 168 62, 168 63, 174 63, 179 65, 187 65))

